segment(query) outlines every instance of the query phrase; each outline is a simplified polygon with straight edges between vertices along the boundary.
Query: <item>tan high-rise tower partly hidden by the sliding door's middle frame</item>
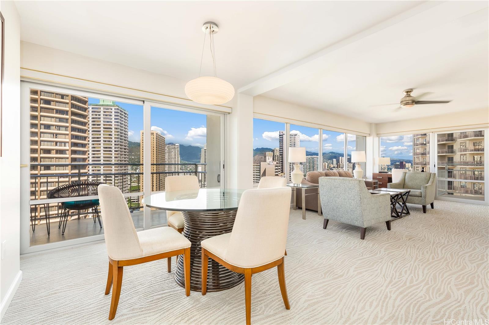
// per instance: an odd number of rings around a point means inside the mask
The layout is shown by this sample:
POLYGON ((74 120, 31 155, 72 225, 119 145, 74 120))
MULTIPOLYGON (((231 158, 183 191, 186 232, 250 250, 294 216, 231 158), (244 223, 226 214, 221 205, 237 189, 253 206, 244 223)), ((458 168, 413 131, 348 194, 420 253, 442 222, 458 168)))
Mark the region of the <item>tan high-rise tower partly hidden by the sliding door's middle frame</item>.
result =
MULTIPOLYGON (((141 163, 143 163, 144 157, 144 131, 141 131, 141 163)), ((157 172, 164 172, 164 165, 154 165, 154 163, 165 163, 165 137, 157 131, 151 131, 151 191, 164 191, 165 190, 165 174, 155 174, 157 172)), ((141 172, 144 172, 143 166, 141 166, 141 172)), ((143 178, 141 178, 141 188, 144 188, 143 178)))

